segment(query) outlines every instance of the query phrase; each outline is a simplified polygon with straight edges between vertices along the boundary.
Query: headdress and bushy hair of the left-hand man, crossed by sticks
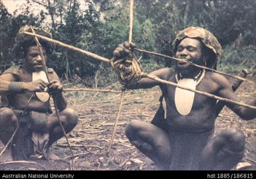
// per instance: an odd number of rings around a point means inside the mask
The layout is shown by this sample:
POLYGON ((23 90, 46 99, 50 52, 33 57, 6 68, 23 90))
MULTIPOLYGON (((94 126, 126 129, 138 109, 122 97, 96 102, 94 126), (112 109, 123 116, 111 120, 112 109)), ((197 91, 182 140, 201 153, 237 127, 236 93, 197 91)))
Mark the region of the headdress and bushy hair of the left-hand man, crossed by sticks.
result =
MULTIPOLYGON (((46 36, 48 38, 52 38, 52 35, 50 32, 47 32, 43 29, 39 29, 37 27, 33 27, 36 34, 46 36)), ((23 57, 23 55, 26 53, 29 46, 36 46, 37 42, 35 41, 35 37, 24 34, 23 32, 32 32, 32 30, 29 28, 29 26, 25 25, 19 29, 19 32, 17 32, 17 35, 15 37, 15 44, 13 45, 13 53, 18 58, 23 57)), ((47 42, 46 40, 43 40, 41 38, 38 38, 40 44, 45 48, 47 52, 51 52, 53 46, 51 43, 47 42)))

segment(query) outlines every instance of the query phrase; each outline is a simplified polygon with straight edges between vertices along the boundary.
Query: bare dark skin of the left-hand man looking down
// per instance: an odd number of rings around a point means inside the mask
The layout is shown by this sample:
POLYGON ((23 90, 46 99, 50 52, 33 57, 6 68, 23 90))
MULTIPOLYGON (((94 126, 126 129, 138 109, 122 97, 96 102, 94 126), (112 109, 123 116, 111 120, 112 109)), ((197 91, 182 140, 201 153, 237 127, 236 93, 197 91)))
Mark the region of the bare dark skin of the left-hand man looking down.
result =
MULTIPOLYGON (((47 60, 47 52, 44 47, 42 47, 42 49, 44 58, 47 60)), ((32 81, 32 72, 40 72, 43 69, 43 58, 39 47, 36 46, 36 44, 29 46, 25 52, 25 62, 22 68, 19 69, 21 79, 18 80, 15 74, 2 74, 0 76, 0 94, 7 96, 9 106, 13 107, 13 109, 45 112, 49 109, 49 100, 43 102, 34 96, 31 98, 31 101, 29 101, 29 98, 33 93, 41 92, 44 91, 45 88, 48 88, 49 91, 53 93, 53 97, 56 97, 57 99, 56 105, 57 109, 59 109, 59 117, 66 133, 69 133, 76 126, 78 116, 72 109, 66 109, 67 102, 62 93, 63 85, 55 72, 49 73, 49 83, 43 80, 32 81), (15 91, 11 91, 11 82, 21 82, 22 92, 16 93, 15 91), (27 106, 28 101, 29 104, 27 106)), ((18 117, 9 106, 0 108, 0 140, 4 145, 11 139, 11 136, 18 125, 18 117)), ((41 126, 38 126, 37 128, 39 129, 41 126)), ((63 130, 59 125, 59 119, 57 118, 56 112, 49 114, 46 130, 49 133, 49 147, 55 141, 63 137, 63 130)), ((58 159, 58 157, 51 152, 48 159, 55 160, 58 159)))

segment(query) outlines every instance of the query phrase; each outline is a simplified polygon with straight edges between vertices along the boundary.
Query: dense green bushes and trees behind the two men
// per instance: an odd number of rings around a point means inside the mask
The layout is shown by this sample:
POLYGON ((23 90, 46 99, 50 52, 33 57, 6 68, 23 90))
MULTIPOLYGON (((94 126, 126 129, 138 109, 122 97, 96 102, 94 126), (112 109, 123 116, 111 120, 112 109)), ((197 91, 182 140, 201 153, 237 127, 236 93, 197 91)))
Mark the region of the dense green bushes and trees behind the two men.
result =
MULTIPOLYGON (((15 33, 23 25, 47 28, 53 38, 109 59, 116 46, 128 40, 128 1, 27 0, 27 7, 21 8, 23 13, 19 15, 10 15, 3 3, 0 5, 0 65, 9 64, 10 59, 13 63, 19 62, 12 56, 11 45, 15 33), (43 10, 34 13, 34 5, 43 10)), ((137 48, 172 55, 172 40, 176 34, 186 27, 200 26, 213 32, 225 46, 219 68, 241 65, 250 68, 255 65, 255 7, 255 0, 134 1, 132 41, 137 48), (244 46, 240 50, 231 48, 240 33, 244 46)), ((142 56, 146 72, 172 65, 170 60, 135 54, 138 58, 142 56)), ((63 78, 88 79, 84 80, 88 86, 94 86, 97 80, 98 86, 117 80, 108 64, 59 46, 49 56, 48 65, 63 78)))

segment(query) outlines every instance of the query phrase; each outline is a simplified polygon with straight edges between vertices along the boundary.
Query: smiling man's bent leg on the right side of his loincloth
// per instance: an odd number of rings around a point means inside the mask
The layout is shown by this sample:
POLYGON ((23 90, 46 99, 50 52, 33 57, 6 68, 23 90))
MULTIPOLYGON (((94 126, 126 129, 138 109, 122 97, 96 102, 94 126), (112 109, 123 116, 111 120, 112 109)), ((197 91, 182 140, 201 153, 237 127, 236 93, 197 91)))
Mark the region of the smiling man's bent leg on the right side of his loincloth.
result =
POLYGON ((221 131, 203 149, 199 170, 230 170, 245 153, 245 135, 236 128, 221 131))

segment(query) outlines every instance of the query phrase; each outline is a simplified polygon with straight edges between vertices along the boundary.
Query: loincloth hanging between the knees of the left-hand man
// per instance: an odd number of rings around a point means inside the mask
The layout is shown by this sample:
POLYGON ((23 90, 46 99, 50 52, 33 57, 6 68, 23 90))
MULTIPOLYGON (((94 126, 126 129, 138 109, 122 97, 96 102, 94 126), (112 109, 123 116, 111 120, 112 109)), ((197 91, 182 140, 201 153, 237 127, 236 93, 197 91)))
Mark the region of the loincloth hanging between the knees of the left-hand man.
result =
POLYGON ((18 118, 19 129, 13 138, 11 153, 14 160, 27 160, 31 154, 39 153, 45 156, 49 133, 47 130, 47 113, 13 109, 18 118))

